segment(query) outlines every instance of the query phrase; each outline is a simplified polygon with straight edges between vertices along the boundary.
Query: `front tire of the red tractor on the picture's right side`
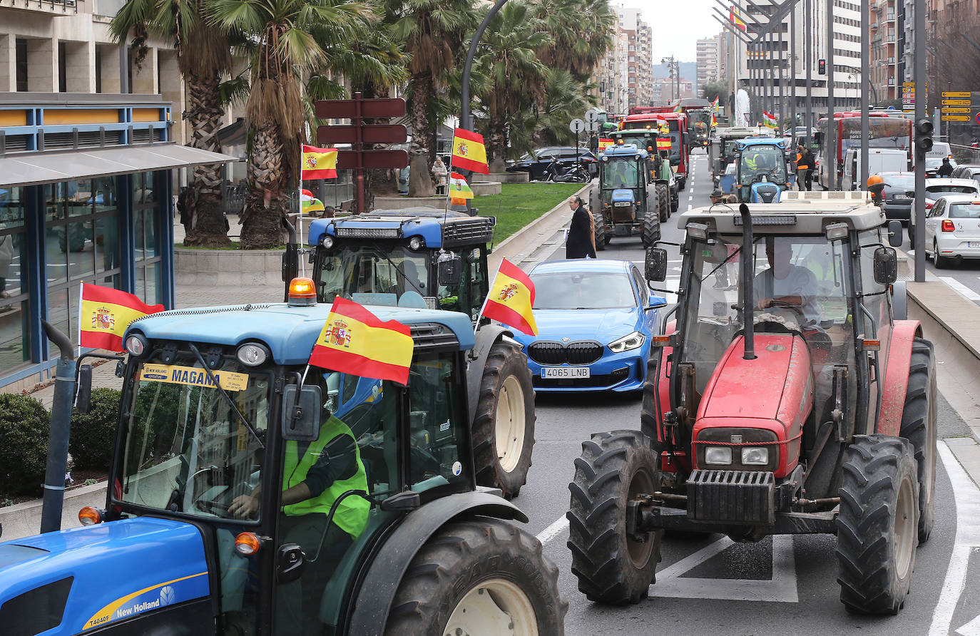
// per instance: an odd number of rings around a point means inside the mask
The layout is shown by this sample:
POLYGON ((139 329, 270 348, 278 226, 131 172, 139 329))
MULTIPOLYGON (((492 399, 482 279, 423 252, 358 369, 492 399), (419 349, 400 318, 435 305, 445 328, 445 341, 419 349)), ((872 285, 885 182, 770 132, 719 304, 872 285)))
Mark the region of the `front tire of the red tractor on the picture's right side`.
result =
POLYGON ((898 613, 918 545, 918 481, 911 444, 860 435, 846 451, 837 516, 837 582, 849 612, 898 613))

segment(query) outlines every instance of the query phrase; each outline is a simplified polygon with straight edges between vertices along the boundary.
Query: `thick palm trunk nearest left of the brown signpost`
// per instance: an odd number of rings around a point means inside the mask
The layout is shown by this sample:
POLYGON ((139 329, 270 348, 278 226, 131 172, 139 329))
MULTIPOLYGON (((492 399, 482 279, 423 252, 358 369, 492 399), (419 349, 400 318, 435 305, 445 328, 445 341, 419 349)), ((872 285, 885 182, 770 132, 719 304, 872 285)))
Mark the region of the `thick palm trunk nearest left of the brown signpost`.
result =
POLYGON ((254 122, 248 164, 248 194, 242 215, 241 244, 245 250, 279 245, 281 220, 289 209, 288 184, 283 181, 285 158, 272 121, 254 122))

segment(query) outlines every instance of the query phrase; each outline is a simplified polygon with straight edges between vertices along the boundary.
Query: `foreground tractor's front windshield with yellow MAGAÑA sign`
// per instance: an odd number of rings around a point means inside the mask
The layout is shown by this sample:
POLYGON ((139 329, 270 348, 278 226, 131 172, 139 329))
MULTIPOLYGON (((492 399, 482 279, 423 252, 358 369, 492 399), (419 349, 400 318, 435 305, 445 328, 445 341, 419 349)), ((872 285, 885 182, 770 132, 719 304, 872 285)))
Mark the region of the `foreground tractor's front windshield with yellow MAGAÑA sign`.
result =
POLYGON ((194 359, 144 363, 134 374, 117 498, 230 518, 231 501, 260 484, 272 378, 237 361, 214 374, 258 438, 194 359))

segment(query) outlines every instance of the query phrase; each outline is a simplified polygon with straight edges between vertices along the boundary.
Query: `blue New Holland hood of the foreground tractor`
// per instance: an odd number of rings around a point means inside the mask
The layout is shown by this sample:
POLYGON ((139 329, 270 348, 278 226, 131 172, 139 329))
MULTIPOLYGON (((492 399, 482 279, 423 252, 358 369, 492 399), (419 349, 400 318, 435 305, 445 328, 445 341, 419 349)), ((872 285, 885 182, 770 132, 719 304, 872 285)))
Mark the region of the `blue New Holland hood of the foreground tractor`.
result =
POLYGON ((61 615, 47 626, 46 616, 30 618, 44 633, 60 624, 57 633, 75 634, 210 593, 201 533, 179 521, 142 516, 0 543, 0 606, 20 597, 13 603, 25 613, 61 615))

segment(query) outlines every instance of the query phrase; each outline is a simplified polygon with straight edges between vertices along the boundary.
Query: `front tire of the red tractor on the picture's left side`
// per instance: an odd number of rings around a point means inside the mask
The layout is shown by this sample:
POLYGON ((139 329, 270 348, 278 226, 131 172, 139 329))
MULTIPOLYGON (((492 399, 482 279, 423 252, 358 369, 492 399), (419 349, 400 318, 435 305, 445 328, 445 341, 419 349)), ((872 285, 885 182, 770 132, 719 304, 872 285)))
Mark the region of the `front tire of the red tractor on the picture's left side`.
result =
POLYGON ((568 549, 571 573, 590 601, 625 605, 647 597, 661 559, 661 533, 627 535, 626 503, 659 487, 657 460, 643 433, 616 430, 582 442, 568 484, 568 549))

